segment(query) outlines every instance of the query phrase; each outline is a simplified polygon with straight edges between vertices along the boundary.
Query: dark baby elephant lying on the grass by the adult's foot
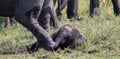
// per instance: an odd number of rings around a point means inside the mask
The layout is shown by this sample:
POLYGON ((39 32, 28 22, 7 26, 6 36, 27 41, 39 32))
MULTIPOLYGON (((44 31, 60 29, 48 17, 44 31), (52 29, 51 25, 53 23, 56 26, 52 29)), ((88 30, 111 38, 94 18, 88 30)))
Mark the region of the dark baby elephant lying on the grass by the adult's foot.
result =
MULTIPOLYGON (((58 48, 60 49, 64 49, 64 48, 71 48, 74 49, 77 46, 83 44, 84 42, 86 42, 87 40, 80 34, 80 32, 72 27, 70 24, 66 24, 63 25, 58 31, 56 31, 55 33, 51 34, 52 39, 55 41, 56 45, 51 49, 56 51, 58 48)), ((38 42, 41 43, 42 42, 38 42)), ((29 51, 29 52, 35 52, 37 51, 39 48, 35 48, 35 46, 37 46, 37 43, 28 45, 27 48, 22 47, 22 52, 24 51, 29 51)))

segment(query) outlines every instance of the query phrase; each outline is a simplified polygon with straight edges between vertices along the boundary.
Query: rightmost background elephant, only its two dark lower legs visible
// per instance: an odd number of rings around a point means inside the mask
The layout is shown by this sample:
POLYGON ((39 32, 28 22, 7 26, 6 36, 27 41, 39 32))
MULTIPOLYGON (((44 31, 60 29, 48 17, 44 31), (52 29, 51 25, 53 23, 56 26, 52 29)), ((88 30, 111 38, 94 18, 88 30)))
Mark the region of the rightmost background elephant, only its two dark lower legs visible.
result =
MULTIPOLYGON (((113 4, 114 14, 120 15, 120 0, 111 0, 113 4)), ((100 15, 99 0, 90 0, 90 16, 100 15)))

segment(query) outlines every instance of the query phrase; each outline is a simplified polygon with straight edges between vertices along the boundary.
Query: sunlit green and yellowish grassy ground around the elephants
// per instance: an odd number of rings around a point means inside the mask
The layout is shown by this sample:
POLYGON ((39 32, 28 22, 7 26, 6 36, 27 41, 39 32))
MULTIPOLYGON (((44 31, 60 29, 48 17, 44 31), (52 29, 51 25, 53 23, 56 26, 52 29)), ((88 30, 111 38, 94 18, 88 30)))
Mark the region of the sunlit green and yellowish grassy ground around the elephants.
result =
MULTIPOLYGON (((79 1, 79 15, 82 21, 69 22, 65 10, 62 24, 72 24, 88 39, 88 42, 71 53, 66 50, 49 52, 40 49, 33 54, 14 53, 20 46, 35 42, 35 37, 23 26, 2 28, 0 20, 0 59, 119 59, 120 58, 120 17, 113 14, 112 5, 100 7, 101 16, 89 17, 89 0, 79 1)), ((56 29, 50 29, 53 33, 56 29)))

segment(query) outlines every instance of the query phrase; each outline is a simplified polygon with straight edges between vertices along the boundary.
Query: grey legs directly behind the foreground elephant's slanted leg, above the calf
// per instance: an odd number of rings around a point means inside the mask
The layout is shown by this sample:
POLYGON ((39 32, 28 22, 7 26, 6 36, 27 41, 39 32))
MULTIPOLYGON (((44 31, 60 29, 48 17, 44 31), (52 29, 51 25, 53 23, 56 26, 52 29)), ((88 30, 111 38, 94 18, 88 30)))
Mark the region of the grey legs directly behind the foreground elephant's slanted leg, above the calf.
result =
POLYGON ((54 10, 53 0, 45 0, 38 21, 40 25, 47 31, 48 27, 50 27, 50 22, 52 22, 55 28, 60 27, 60 22, 58 21, 56 12, 54 10))

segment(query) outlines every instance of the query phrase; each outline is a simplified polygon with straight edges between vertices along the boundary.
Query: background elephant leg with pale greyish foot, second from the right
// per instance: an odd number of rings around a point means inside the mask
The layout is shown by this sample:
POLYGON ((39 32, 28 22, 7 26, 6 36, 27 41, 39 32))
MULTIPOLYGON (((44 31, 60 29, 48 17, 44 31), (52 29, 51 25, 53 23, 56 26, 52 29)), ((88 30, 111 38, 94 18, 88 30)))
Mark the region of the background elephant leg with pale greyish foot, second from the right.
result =
POLYGON ((90 0, 90 16, 99 16, 100 10, 99 10, 99 0, 90 0))

